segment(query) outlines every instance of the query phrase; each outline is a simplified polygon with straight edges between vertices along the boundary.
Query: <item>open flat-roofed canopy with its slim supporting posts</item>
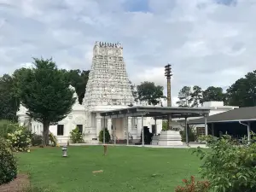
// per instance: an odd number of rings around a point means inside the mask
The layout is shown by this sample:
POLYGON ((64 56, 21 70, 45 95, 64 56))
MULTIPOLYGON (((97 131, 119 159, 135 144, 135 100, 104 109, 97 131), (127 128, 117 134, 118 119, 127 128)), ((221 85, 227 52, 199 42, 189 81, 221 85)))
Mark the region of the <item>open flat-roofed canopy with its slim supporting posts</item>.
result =
MULTIPOLYGON (((144 117, 152 117, 155 119, 167 119, 168 115, 172 116, 172 119, 185 119, 185 130, 186 130, 186 143, 189 142, 188 139, 188 126, 187 126, 187 119, 190 117, 204 117, 205 125, 206 125, 206 134, 207 134, 207 116, 210 113, 209 108, 176 108, 176 107, 151 107, 151 106, 136 106, 131 108, 121 108, 111 111, 106 111, 100 113, 103 119, 112 119, 112 124, 118 121, 118 119, 125 119, 127 118, 127 124, 124 124, 123 127, 125 131, 125 136, 127 139, 127 145, 129 145, 129 118, 137 117, 141 118, 141 127, 142 127, 142 136, 144 138, 144 131, 143 131, 143 118, 144 117)), ((137 121, 139 122, 139 121, 137 121)), ((105 130, 105 129, 104 129, 105 130)), ((114 143, 116 143, 116 126, 113 128, 114 134, 114 143)), ((103 144, 105 144, 105 134, 103 134, 103 144)), ((144 146, 144 140, 142 141, 142 145, 144 146)))

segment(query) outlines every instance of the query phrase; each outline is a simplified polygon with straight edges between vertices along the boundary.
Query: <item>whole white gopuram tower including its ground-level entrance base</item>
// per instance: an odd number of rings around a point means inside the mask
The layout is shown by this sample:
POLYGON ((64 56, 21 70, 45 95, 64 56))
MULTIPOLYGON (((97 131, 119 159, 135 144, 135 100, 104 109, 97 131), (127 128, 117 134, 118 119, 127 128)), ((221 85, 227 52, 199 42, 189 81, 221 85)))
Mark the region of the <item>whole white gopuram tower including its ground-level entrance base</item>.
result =
POLYGON ((85 134, 92 140, 96 140, 102 127, 111 132, 111 119, 102 119, 100 112, 127 108, 134 103, 121 44, 94 45, 83 103, 87 117, 85 134))

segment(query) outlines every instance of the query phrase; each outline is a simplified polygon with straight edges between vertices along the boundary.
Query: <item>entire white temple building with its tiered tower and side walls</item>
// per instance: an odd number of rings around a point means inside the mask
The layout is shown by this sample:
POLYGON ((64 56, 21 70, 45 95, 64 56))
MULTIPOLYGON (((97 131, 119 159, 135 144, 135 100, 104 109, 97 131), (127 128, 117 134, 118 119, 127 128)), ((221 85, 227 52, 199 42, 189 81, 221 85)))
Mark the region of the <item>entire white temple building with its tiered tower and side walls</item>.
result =
MULTIPOLYGON (((78 96, 75 94, 75 97, 78 96)), ((156 124, 154 118, 148 117, 120 118, 112 122, 111 119, 103 119, 100 115, 104 111, 128 108, 131 104, 137 105, 125 69, 123 47, 121 44, 96 42, 82 105, 77 98, 72 113, 58 122, 58 125, 50 125, 49 131, 56 136, 58 143, 67 143, 70 131, 76 127, 84 133, 85 143, 99 143, 99 132, 104 127, 108 128, 111 136, 113 131, 116 131, 114 135, 117 140, 125 140, 128 133, 136 141, 141 137, 143 120, 143 125, 148 126, 149 131, 159 134, 162 129, 161 119, 157 119, 156 124)), ((26 108, 20 106, 17 115, 20 125, 29 125, 32 132, 42 134, 43 125, 30 120, 26 115, 26 108)))

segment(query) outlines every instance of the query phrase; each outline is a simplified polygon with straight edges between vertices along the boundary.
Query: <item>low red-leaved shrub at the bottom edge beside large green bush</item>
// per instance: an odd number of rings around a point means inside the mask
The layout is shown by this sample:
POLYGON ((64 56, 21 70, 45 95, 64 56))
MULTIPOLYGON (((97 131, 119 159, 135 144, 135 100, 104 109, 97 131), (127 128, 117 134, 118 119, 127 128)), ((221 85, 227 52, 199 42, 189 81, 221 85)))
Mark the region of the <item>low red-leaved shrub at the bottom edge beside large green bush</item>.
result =
POLYGON ((191 176, 190 181, 183 179, 184 187, 177 186, 175 192, 208 192, 210 190, 210 183, 208 181, 197 181, 195 177, 191 176))

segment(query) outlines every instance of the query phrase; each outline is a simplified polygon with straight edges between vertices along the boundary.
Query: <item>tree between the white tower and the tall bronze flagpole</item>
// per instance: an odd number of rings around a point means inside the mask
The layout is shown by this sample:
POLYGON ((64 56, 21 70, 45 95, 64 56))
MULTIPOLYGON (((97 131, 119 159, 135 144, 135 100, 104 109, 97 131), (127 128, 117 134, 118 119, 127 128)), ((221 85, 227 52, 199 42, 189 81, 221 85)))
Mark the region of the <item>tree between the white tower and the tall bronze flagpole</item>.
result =
POLYGON ((144 81, 140 85, 137 85, 137 100, 148 102, 149 105, 154 106, 161 102, 164 96, 164 87, 155 85, 154 82, 144 81))

